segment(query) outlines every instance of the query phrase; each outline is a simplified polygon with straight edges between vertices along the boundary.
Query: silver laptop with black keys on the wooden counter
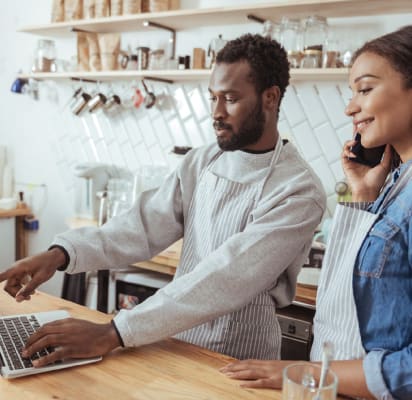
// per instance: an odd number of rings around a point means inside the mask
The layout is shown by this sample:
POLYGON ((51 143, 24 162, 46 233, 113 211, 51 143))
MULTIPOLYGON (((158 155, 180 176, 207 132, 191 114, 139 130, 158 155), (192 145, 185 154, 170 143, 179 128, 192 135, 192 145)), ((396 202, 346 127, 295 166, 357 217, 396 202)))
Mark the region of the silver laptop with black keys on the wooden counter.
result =
POLYGON ((33 355, 31 359, 21 357, 21 351, 27 338, 40 326, 68 317, 70 314, 64 310, 0 317, 0 375, 7 379, 19 378, 100 361, 101 356, 67 359, 45 367, 34 368, 31 361, 52 352, 53 348, 44 349, 33 355))

